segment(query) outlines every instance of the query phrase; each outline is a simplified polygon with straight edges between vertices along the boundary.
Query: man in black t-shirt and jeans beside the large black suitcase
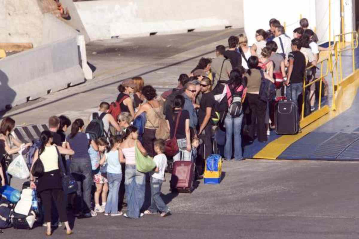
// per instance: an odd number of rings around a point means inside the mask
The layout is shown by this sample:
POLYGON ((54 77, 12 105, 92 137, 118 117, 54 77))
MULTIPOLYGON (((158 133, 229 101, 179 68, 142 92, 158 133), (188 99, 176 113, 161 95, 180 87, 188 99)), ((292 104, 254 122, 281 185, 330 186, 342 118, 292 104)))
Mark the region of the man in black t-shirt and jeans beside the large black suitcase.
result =
POLYGON ((288 78, 285 82, 286 86, 290 86, 286 95, 288 99, 297 102, 298 96, 303 91, 304 72, 306 70, 306 58, 300 52, 300 41, 295 38, 292 40, 292 52, 288 54, 288 78))

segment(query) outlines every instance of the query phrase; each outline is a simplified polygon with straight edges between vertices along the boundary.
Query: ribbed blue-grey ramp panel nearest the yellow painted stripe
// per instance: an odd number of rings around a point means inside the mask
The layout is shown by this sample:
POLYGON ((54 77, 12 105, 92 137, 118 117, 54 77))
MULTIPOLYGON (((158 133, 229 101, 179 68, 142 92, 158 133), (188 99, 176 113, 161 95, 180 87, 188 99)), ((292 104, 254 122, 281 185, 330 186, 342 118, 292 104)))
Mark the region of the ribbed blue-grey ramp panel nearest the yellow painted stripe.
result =
POLYGON ((290 145, 279 159, 310 159, 316 148, 336 133, 312 132, 290 145))

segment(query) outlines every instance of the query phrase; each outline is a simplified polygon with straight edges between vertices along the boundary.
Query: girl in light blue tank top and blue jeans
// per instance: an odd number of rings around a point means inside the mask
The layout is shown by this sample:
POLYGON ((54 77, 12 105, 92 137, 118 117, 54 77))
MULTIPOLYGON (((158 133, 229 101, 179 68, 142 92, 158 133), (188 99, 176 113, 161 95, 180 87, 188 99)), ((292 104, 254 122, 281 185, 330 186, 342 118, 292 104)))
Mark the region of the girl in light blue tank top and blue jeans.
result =
POLYGON ((112 136, 109 141, 111 150, 105 153, 100 160, 101 165, 105 162, 107 163, 106 172, 109 187, 104 215, 121 216, 122 212, 118 211, 118 191, 120 190, 122 180, 121 163, 125 162, 122 151, 119 150, 122 138, 119 136, 112 136))

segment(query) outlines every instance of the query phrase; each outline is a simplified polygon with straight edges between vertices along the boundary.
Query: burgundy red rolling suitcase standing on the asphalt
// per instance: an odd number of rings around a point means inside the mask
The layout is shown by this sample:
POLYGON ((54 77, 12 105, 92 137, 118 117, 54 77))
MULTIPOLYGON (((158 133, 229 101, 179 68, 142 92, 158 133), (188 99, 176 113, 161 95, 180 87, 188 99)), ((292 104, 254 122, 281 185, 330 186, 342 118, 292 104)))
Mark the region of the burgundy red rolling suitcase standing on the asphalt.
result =
POLYGON ((195 164, 191 161, 176 161, 173 163, 170 181, 171 191, 192 192, 195 176, 195 164))

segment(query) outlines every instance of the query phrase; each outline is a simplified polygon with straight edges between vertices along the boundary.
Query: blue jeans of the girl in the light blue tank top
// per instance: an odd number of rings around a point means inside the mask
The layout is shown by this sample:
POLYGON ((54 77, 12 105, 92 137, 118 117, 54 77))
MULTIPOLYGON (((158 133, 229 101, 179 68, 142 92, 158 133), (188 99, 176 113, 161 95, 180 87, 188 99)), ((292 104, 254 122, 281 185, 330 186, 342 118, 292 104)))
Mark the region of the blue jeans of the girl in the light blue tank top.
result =
POLYGON ((122 173, 107 172, 108 196, 106 201, 105 213, 116 214, 118 212, 118 192, 122 180, 122 173))

